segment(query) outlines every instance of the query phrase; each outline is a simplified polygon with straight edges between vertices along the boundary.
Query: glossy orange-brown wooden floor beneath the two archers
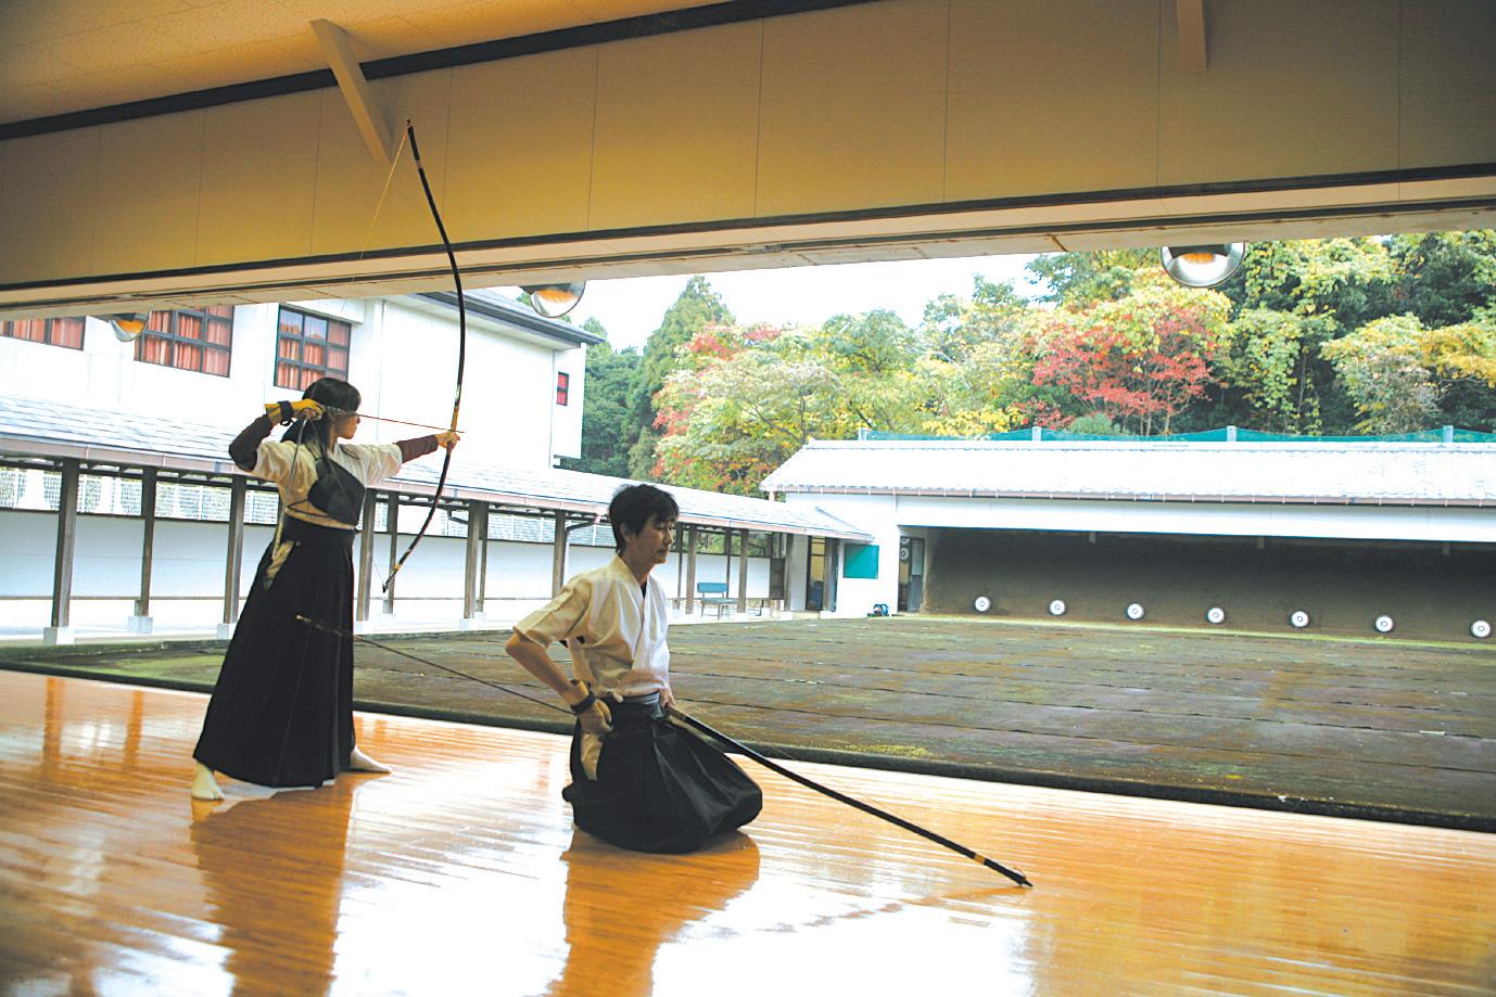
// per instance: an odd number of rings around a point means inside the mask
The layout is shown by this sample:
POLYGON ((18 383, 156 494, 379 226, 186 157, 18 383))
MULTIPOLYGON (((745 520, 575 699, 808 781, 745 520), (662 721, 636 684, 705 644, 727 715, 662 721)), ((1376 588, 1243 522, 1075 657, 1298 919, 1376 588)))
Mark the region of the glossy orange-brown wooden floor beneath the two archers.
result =
POLYGON ((205 698, 0 673, 6 994, 1489 994, 1496 836, 799 765, 682 858, 570 827, 564 741, 361 716, 392 776, 193 804, 205 698))

